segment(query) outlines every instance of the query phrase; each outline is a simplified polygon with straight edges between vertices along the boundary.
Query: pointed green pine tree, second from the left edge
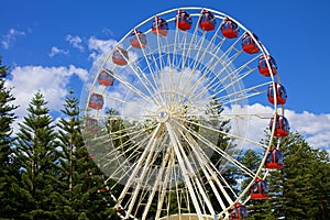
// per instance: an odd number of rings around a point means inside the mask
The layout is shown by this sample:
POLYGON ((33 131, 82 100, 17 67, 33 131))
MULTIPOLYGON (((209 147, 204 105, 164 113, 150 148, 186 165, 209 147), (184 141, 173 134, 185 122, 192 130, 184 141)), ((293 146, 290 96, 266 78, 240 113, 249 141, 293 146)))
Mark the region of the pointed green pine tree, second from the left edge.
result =
POLYGON ((16 188, 21 199, 20 219, 56 219, 52 194, 57 182, 53 119, 44 96, 38 91, 28 107, 28 117, 16 134, 15 163, 21 179, 16 188))

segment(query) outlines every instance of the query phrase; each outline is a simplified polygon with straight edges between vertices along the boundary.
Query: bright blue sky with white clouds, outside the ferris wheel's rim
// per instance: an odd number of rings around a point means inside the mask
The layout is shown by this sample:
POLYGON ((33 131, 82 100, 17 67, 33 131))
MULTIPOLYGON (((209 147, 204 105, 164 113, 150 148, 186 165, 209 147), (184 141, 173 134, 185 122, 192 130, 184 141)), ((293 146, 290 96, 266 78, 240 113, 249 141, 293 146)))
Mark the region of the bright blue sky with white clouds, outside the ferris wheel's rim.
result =
POLYGON ((18 114, 24 116, 36 90, 46 95, 52 110, 61 109, 70 88, 79 97, 103 45, 158 12, 194 6, 227 13, 258 35, 288 91, 293 130, 315 147, 330 150, 327 0, 2 0, 0 55, 11 67, 18 114))

